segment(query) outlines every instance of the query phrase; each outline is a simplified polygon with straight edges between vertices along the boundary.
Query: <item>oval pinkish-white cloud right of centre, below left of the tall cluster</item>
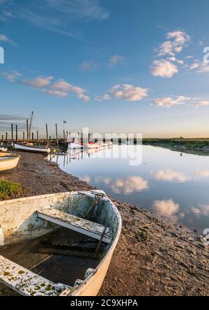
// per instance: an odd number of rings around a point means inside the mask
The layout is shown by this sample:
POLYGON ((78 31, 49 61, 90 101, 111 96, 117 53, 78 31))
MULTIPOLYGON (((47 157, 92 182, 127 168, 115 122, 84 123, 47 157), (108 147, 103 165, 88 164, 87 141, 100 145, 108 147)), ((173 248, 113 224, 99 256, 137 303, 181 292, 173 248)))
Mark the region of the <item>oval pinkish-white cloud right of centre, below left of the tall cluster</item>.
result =
POLYGON ((131 84, 118 84, 109 91, 114 98, 127 101, 140 101, 148 95, 148 89, 134 87, 131 84))

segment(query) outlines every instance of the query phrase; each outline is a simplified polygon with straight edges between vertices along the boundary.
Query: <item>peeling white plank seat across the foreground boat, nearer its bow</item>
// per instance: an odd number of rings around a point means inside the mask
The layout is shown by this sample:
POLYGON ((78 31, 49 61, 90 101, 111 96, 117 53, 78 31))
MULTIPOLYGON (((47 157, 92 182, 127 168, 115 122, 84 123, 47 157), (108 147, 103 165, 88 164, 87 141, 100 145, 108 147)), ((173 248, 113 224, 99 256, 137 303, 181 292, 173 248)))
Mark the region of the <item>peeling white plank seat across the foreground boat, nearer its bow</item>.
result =
POLYGON ((40 209, 38 210, 40 219, 56 223, 70 230, 75 230, 88 237, 101 240, 109 244, 112 240, 112 231, 110 228, 105 228, 101 224, 82 219, 80 217, 61 212, 56 209, 40 209))

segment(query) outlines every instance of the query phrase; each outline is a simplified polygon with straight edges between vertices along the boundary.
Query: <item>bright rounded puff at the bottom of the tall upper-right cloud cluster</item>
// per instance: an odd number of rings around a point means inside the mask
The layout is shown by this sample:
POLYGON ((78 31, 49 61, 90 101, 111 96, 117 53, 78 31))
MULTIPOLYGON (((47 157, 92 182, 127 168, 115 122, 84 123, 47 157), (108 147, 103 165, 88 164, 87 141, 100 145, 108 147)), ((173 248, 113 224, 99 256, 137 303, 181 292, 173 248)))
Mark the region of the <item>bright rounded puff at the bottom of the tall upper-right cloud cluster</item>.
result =
POLYGON ((151 73, 154 76, 160 77, 172 77, 175 73, 178 73, 178 67, 167 60, 155 60, 151 67, 151 73))

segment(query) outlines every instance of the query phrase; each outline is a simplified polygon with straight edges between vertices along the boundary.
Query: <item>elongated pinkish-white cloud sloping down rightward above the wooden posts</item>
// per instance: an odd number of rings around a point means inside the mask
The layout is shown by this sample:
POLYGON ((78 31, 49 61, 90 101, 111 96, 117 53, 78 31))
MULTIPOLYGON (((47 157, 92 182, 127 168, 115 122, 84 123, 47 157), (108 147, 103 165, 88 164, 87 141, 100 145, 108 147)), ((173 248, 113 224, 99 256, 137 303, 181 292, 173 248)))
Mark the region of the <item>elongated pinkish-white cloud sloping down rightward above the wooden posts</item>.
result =
POLYGON ((86 90, 82 89, 82 87, 78 87, 75 85, 72 85, 65 80, 58 80, 54 84, 52 84, 48 89, 45 90, 47 94, 51 94, 54 96, 63 96, 65 97, 66 95, 70 93, 75 93, 77 94, 79 99, 82 99, 83 101, 89 101, 90 98, 86 96, 86 90))

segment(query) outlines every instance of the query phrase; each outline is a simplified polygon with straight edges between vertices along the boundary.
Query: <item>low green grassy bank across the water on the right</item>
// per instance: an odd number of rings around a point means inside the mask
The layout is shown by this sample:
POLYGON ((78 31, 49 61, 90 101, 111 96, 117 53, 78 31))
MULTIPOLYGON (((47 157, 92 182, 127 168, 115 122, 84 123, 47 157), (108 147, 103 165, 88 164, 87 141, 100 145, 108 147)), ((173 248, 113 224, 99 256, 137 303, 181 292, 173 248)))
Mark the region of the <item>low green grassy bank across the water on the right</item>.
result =
POLYGON ((208 139, 144 139, 143 144, 187 154, 209 156, 208 139))

